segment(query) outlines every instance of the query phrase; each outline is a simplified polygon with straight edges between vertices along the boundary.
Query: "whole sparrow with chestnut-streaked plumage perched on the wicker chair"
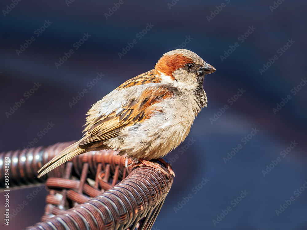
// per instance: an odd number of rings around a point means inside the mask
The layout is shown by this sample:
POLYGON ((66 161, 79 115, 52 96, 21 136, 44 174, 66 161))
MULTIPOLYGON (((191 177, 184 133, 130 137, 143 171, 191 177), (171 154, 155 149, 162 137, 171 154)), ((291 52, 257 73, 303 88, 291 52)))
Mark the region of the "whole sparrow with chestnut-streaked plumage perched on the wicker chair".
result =
POLYGON ((170 169, 162 157, 185 140, 195 117, 207 107, 204 75, 215 71, 190 50, 165 53, 154 69, 127 80, 92 105, 84 136, 46 163, 38 177, 76 155, 102 149, 137 160, 133 167, 147 165, 166 174, 150 160, 160 160, 170 169))

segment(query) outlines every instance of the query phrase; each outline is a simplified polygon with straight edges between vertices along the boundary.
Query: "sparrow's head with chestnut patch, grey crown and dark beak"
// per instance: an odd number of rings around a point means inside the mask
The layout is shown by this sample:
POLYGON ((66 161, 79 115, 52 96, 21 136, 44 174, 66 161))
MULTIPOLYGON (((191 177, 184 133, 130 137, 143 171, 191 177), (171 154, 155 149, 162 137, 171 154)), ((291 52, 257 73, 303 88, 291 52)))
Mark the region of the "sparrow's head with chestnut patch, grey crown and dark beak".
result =
POLYGON ((215 72, 216 68, 190 50, 175 49, 159 59, 155 71, 160 75, 162 82, 193 90, 203 83, 205 74, 215 72))

